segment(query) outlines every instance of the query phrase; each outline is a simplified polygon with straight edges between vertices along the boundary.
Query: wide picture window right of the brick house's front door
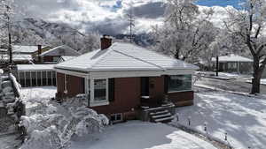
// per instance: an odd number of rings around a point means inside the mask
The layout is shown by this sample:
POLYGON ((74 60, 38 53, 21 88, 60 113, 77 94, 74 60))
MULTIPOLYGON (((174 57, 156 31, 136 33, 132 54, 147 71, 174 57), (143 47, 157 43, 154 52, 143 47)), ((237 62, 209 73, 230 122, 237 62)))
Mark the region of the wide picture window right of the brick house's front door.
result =
POLYGON ((192 90, 192 75, 176 75, 168 77, 168 92, 192 90))

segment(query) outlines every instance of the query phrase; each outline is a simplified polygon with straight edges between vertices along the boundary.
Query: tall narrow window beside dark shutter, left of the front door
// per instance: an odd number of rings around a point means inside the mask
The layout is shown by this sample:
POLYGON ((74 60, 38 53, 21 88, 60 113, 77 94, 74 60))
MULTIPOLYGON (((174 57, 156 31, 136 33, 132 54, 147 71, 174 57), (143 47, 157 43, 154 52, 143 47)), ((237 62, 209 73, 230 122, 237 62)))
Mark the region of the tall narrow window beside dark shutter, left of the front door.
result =
POLYGON ((94 101, 106 101, 106 79, 94 80, 94 101))

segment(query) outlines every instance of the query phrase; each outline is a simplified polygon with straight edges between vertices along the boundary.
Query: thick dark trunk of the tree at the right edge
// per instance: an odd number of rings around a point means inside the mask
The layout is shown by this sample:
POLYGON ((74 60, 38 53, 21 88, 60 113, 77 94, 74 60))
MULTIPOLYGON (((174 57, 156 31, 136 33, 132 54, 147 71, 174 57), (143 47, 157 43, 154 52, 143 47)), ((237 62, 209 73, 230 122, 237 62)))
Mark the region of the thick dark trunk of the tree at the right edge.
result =
POLYGON ((260 93, 262 71, 260 70, 260 61, 254 58, 254 74, 252 79, 251 94, 260 93))

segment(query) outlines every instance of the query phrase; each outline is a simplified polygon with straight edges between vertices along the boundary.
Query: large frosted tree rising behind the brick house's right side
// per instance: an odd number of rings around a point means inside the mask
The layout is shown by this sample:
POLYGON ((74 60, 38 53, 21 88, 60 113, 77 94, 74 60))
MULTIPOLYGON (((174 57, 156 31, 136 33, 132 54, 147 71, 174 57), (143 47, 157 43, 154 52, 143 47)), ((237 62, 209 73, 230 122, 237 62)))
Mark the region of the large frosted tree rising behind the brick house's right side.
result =
POLYGON ((212 9, 200 12, 193 0, 168 0, 164 25, 153 27, 155 48, 176 59, 198 61, 215 39, 217 29, 209 21, 212 14, 212 9))

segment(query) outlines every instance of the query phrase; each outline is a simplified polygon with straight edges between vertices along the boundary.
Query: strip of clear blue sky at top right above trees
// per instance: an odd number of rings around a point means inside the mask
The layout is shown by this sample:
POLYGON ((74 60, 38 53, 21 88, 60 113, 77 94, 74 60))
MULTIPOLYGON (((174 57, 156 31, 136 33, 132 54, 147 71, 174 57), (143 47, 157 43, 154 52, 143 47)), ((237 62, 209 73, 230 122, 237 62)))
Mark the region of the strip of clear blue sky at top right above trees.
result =
POLYGON ((205 5, 205 6, 222 6, 225 7, 227 5, 232 5, 233 7, 239 9, 239 3, 243 3, 246 0, 199 0, 197 4, 205 5))

